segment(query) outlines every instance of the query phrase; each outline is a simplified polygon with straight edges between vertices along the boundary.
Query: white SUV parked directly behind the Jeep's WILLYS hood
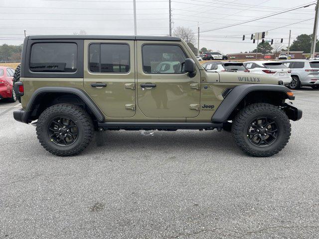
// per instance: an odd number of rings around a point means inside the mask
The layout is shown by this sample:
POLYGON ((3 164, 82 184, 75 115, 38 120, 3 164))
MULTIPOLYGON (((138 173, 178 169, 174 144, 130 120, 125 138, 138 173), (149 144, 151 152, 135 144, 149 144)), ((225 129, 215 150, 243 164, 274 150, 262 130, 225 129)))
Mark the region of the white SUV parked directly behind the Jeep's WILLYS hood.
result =
POLYGON ((285 86, 288 86, 292 80, 291 69, 279 61, 246 61, 244 62, 244 66, 250 70, 251 73, 274 76, 283 81, 285 86))

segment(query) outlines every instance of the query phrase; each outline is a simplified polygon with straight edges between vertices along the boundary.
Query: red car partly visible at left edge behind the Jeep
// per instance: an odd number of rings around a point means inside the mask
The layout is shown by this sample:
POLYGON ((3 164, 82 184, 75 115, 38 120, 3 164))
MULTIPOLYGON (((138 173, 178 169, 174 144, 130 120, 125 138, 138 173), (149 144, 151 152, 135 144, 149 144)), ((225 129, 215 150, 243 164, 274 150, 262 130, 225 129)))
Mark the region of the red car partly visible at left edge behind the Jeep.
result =
POLYGON ((16 96, 13 90, 14 70, 10 67, 0 66, 0 100, 6 99, 15 102, 16 96))

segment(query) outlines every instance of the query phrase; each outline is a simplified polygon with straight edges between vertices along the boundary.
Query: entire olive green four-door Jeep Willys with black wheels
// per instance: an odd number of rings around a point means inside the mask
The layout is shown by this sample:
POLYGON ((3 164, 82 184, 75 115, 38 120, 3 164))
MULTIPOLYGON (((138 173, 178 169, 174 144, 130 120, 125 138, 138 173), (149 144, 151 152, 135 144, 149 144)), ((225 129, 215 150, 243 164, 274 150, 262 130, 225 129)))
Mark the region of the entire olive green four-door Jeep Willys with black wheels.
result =
POLYGON ((176 37, 27 36, 17 72, 14 119, 36 124, 42 146, 61 156, 80 153, 94 130, 215 128, 270 156, 302 117, 276 78, 207 72, 176 37))

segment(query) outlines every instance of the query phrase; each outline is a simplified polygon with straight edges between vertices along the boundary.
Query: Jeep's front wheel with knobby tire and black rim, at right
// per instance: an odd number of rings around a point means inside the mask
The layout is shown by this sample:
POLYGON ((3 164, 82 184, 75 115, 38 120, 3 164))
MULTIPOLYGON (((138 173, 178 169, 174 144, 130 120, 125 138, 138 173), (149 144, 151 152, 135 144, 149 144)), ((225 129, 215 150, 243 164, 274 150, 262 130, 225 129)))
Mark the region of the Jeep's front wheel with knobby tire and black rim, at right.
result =
POLYGON ((241 110, 233 120, 235 143, 248 155, 267 157, 281 151, 291 135, 290 121, 278 107, 256 103, 241 110))

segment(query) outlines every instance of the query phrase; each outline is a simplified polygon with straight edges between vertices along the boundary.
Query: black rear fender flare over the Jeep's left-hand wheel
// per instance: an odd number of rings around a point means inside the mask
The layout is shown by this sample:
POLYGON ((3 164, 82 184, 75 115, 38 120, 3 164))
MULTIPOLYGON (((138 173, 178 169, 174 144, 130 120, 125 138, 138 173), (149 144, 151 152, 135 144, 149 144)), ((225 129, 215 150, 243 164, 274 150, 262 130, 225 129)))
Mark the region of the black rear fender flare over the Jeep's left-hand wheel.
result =
POLYGON ((31 112, 33 110, 33 107, 35 105, 36 99, 38 97, 41 97, 45 93, 70 93, 78 96, 85 104, 86 106, 92 111, 94 116, 98 121, 104 121, 104 116, 100 109, 96 106, 96 104, 93 102, 93 100, 82 90, 78 88, 72 88, 72 87, 42 87, 34 91, 33 95, 31 96, 25 111, 31 112))

